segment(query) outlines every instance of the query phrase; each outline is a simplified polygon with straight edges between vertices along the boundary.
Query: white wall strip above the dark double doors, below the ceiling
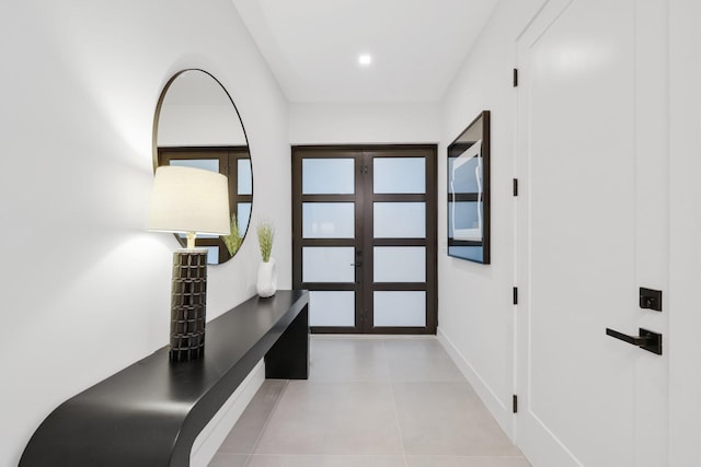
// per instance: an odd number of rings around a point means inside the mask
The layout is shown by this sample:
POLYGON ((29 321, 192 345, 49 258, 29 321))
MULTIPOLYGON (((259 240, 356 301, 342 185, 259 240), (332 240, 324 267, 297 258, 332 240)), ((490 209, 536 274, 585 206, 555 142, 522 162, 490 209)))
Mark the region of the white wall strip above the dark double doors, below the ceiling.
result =
POLYGON ((310 104, 289 107, 291 144, 435 143, 437 104, 310 104))

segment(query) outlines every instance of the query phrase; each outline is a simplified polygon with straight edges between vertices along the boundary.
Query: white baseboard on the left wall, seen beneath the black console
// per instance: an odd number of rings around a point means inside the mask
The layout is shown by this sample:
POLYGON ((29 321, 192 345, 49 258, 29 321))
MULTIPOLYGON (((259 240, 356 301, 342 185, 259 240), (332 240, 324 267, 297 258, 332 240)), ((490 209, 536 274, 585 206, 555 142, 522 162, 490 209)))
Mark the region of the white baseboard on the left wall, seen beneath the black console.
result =
POLYGON ((261 360, 195 439, 192 467, 207 467, 264 381, 265 362, 261 360))

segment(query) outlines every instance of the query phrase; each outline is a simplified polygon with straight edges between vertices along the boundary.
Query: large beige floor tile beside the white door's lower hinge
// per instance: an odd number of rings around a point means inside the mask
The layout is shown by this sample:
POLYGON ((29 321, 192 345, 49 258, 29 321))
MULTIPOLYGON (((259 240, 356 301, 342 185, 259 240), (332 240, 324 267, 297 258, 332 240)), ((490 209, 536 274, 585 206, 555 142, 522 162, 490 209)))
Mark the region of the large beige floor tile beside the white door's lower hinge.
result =
POLYGON ((467 382, 393 388, 406 455, 521 455, 467 382))

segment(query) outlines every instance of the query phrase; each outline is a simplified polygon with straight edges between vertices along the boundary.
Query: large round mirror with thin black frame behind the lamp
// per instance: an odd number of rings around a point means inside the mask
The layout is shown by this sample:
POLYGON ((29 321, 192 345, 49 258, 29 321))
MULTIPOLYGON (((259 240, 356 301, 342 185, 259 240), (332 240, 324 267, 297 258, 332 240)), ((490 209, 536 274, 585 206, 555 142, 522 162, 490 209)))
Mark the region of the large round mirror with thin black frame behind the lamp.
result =
MULTIPOLYGON (((221 83, 203 70, 184 70, 165 85, 153 122, 153 168, 181 165, 219 172, 229 178, 231 235, 197 235, 208 262, 237 254, 253 206, 249 142, 233 101, 221 83)), ((175 235, 185 245, 185 235, 175 235)))

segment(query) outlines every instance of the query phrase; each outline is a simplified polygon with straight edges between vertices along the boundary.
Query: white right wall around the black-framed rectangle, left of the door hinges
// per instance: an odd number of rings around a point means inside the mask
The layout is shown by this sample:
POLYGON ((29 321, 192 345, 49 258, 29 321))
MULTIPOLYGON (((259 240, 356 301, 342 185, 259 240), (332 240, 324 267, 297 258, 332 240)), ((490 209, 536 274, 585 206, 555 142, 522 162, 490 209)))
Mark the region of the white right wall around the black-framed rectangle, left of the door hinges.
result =
MULTIPOLYGON (((446 149, 482 110, 491 110, 490 266, 445 255, 446 207, 438 209, 438 337, 502 428, 513 436, 516 37, 542 0, 503 0, 443 100, 438 166, 446 149)), ((438 172, 438 192, 446 174, 438 172)), ((440 198, 439 198, 440 199, 440 198)))

